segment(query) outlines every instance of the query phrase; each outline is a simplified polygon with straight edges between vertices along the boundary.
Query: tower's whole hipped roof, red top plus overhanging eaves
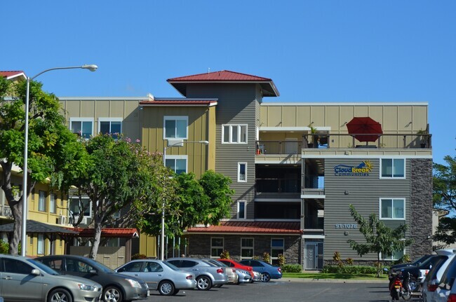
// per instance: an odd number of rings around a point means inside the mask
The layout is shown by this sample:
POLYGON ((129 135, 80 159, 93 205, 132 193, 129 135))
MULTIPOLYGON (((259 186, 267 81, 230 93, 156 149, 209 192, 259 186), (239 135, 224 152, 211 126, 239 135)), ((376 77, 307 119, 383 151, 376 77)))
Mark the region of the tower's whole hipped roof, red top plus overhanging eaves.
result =
POLYGON ((262 88, 264 97, 279 96, 279 90, 277 90, 276 85, 274 85, 274 82, 270 78, 241 74, 229 70, 168 78, 166 81, 184 96, 187 96, 187 85, 190 83, 258 83, 262 88))

